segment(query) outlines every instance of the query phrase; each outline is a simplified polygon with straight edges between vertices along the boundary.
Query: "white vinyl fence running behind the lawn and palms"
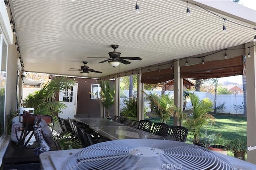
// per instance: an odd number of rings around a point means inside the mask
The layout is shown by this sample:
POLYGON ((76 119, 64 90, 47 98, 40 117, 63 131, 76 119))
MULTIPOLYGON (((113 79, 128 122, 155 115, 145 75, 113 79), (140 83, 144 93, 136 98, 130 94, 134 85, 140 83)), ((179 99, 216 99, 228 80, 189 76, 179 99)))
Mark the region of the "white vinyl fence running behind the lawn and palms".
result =
MULTIPOLYGON (((161 95, 160 90, 158 90, 158 91, 145 90, 145 92, 147 94, 150 94, 150 92, 151 92, 151 93, 157 93, 158 95, 161 95)), ((122 93, 128 97, 129 90, 122 90, 122 93)), ((170 96, 174 96, 173 91, 166 91, 165 93, 166 94, 170 93, 170 96)), ((191 93, 197 94, 200 99, 209 98, 210 100, 212 100, 213 105, 214 105, 214 94, 210 94, 208 92, 194 92, 194 91, 191 93)), ((122 110, 122 101, 123 101, 123 99, 121 98, 120 99, 120 104, 121 104, 120 109, 121 110, 122 110)), ((243 102, 244 102, 244 95, 242 95, 242 94, 236 94, 236 95, 235 94, 218 94, 217 100, 216 100, 216 107, 224 104, 225 109, 224 109, 223 113, 243 114, 243 112, 244 112, 243 102), (224 104, 224 102, 225 102, 225 104, 224 104), (240 107, 242 107, 242 109, 239 109, 240 107)), ((149 105, 146 102, 144 102, 144 104, 146 107, 149 108, 149 105)), ((192 109, 190 99, 187 100, 186 109, 192 109)), ((148 109, 148 111, 150 111, 150 109, 148 109)), ((219 111, 219 113, 222 113, 222 111, 219 111)))

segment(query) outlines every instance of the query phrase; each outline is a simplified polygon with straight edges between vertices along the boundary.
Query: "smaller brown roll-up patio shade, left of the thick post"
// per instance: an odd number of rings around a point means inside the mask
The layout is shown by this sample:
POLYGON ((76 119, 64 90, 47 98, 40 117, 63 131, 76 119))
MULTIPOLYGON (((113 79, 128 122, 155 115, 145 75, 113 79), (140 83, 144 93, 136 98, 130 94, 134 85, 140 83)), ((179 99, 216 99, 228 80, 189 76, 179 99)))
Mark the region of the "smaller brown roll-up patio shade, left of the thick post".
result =
POLYGON ((166 68, 163 70, 156 70, 151 72, 145 72, 141 75, 141 82, 147 84, 156 84, 166 82, 173 79, 173 69, 166 68))

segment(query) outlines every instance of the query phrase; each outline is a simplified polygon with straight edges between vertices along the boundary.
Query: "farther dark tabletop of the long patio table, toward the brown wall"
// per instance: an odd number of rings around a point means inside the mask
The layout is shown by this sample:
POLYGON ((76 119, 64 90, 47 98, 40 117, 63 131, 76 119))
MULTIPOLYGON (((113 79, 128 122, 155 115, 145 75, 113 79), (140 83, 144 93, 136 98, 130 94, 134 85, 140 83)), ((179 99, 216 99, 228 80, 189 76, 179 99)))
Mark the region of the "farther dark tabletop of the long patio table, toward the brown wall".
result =
POLYGON ((84 123, 89 127, 93 126, 125 126, 124 124, 117 123, 115 121, 110 121, 108 119, 103 119, 101 117, 76 117, 76 121, 84 123))

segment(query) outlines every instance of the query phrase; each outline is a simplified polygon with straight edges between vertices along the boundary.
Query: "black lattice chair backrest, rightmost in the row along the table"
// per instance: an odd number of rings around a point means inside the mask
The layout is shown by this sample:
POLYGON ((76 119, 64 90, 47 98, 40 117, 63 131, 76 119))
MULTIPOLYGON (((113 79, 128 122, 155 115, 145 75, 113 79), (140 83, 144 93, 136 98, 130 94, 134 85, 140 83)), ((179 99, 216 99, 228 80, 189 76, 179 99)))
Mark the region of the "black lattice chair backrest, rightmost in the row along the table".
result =
POLYGON ((171 126, 168 136, 178 137, 177 141, 186 142, 188 129, 183 126, 171 126))

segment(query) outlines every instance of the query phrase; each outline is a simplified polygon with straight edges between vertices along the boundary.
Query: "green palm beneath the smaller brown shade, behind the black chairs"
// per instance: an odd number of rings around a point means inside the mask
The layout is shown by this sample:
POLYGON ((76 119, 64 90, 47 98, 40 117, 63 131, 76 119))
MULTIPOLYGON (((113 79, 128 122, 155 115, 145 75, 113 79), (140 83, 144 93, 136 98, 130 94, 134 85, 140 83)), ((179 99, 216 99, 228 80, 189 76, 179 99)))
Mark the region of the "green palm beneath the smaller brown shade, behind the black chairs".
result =
POLYGON ((150 107, 152 111, 158 115, 162 123, 167 123, 170 120, 170 116, 174 116, 176 113, 174 107, 173 98, 170 97, 170 93, 162 94, 161 96, 157 94, 146 94, 145 100, 150 102, 150 107))

